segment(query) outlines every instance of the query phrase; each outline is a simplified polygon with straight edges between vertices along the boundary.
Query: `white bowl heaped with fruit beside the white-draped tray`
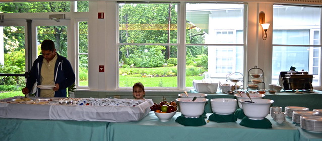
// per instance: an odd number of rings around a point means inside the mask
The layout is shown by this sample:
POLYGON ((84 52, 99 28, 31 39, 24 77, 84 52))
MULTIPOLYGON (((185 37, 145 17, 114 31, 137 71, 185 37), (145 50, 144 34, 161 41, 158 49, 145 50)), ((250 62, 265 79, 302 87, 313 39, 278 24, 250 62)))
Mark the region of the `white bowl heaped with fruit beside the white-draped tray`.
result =
POLYGON ((162 122, 169 121, 178 110, 177 103, 175 101, 171 101, 170 103, 167 101, 161 101, 159 104, 154 103, 150 109, 151 111, 154 111, 154 114, 162 122))

